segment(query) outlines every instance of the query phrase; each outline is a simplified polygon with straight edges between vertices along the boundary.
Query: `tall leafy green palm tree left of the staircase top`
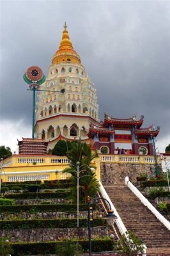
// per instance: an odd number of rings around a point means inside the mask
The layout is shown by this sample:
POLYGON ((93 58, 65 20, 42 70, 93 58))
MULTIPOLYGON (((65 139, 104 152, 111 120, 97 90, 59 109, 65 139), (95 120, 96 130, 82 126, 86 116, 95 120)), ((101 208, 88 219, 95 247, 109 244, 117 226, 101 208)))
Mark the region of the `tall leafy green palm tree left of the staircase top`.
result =
POLYGON ((97 154, 92 154, 90 145, 82 143, 81 141, 73 141, 72 149, 68 150, 67 155, 70 160, 70 167, 63 170, 72 174, 70 179, 72 182, 72 198, 73 201, 77 199, 77 162, 79 162, 79 195, 80 200, 85 200, 87 196, 93 197, 97 193, 99 184, 96 179, 95 172, 91 170, 91 161, 97 157, 97 154))

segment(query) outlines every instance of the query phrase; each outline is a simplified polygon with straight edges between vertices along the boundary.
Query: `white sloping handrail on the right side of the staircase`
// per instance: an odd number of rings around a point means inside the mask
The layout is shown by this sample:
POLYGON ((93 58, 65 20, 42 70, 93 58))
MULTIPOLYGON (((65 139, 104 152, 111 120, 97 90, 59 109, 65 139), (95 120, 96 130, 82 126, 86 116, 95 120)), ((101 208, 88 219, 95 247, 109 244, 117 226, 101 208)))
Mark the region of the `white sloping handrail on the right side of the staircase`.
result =
POLYGON ((158 212, 157 209, 155 209, 155 207, 153 207, 153 205, 148 201, 148 199, 146 199, 146 197, 144 197, 143 194, 137 188, 135 188, 135 186, 130 182, 128 177, 125 178, 125 184, 139 198, 139 200, 141 200, 141 202, 145 206, 147 206, 148 209, 150 209, 150 211, 157 217, 157 219, 160 220, 160 222, 162 222, 162 224, 164 224, 168 230, 170 230, 170 222, 166 220, 166 218, 164 218, 164 216, 162 216, 162 214, 160 214, 160 212, 158 212))

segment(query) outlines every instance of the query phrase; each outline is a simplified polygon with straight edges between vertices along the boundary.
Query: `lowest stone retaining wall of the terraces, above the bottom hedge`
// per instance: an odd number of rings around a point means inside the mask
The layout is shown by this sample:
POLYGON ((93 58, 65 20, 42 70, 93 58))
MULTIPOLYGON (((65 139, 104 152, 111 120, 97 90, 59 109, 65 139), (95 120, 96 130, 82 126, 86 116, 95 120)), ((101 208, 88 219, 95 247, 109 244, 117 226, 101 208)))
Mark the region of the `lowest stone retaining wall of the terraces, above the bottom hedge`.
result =
MULTIPOLYGON (((107 227, 91 228, 91 237, 108 235, 107 227)), ((41 242, 73 239, 77 236, 77 228, 34 228, 0 230, 0 237, 11 237, 12 242, 41 242)), ((88 239, 88 228, 79 228, 79 239, 88 239)))

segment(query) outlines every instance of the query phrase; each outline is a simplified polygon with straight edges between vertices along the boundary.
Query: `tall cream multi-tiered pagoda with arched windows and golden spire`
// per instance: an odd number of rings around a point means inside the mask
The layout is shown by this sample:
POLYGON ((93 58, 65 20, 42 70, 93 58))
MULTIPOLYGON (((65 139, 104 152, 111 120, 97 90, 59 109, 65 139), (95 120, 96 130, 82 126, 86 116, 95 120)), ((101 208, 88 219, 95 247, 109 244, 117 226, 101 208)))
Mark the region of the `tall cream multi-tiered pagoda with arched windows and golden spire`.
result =
POLYGON ((59 139, 89 141, 89 125, 98 124, 97 93, 94 84, 73 49, 66 29, 49 73, 39 92, 36 111, 36 138, 53 148, 59 139))

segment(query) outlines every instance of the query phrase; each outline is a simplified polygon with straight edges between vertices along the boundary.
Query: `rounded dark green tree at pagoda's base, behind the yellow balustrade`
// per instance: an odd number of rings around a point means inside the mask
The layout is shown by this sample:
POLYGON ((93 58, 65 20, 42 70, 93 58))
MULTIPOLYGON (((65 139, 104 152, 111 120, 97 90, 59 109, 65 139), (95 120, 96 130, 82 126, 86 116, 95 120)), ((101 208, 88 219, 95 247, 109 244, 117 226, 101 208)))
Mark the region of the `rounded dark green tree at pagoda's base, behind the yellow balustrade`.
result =
POLYGON ((70 141, 59 140, 52 149, 52 155, 66 156, 67 150, 70 150, 71 148, 72 143, 70 141))

